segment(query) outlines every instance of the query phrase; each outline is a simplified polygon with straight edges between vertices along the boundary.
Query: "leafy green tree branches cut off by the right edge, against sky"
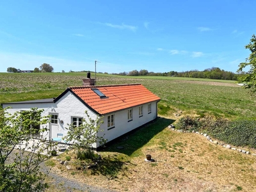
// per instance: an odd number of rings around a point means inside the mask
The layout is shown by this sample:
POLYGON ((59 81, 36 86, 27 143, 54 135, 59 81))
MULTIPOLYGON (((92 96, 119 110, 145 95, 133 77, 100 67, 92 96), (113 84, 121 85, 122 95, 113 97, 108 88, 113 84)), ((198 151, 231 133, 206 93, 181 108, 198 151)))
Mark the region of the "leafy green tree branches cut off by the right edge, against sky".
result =
POLYGON ((249 49, 251 54, 246 58, 247 62, 240 63, 237 72, 243 72, 243 69, 250 66, 248 72, 239 77, 239 83, 246 82, 244 88, 252 88, 252 91, 256 91, 256 36, 253 34, 250 40, 250 44, 245 45, 245 49, 249 49))

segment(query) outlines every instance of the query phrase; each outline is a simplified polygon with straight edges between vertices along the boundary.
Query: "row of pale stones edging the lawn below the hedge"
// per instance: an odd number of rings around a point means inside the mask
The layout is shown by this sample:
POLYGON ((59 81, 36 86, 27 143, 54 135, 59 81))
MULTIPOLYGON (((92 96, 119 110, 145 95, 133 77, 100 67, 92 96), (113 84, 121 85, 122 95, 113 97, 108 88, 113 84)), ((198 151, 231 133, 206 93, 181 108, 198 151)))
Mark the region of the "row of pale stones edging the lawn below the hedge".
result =
POLYGON ((237 150, 238 152, 241 152, 241 153, 246 154, 246 155, 251 154, 252 156, 256 156, 256 154, 252 154, 250 151, 246 151, 246 150, 243 150, 243 149, 240 149, 240 148, 234 148, 234 147, 231 147, 231 145, 229 145, 229 144, 225 145, 224 143, 219 143, 218 141, 212 141, 210 136, 207 135, 206 133, 203 133, 203 132, 184 131, 183 129, 174 129, 175 126, 172 125, 172 124, 168 125, 168 128, 171 129, 172 131, 177 131, 177 132, 193 132, 193 133, 196 133, 196 134, 201 134, 202 136, 204 136, 208 141, 210 141, 213 144, 221 145, 222 147, 225 147, 225 148, 228 148, 228 149, 232 149, 232 150, 237 150))

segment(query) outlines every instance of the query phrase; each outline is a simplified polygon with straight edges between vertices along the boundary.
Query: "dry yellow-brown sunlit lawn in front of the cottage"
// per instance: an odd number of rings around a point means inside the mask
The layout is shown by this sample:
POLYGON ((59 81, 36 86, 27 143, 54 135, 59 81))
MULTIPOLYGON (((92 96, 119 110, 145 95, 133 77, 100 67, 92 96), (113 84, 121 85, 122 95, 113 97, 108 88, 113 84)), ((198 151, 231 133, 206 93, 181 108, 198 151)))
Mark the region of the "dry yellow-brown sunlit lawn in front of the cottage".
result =
POLYGON ((95 172, 78 171, 75 166, 68 171, 60 164, 52 170, 116 191, 256 191, 255 157, 214 145, 202 135, 166 128, 138 150, 141 155, 137 157, 122 154, 122 150, 100 152, 104 159, 115 157, 124 162, 115 177, 92 175, 95 172), (156 162, 145 162, 146 154, 156 162))

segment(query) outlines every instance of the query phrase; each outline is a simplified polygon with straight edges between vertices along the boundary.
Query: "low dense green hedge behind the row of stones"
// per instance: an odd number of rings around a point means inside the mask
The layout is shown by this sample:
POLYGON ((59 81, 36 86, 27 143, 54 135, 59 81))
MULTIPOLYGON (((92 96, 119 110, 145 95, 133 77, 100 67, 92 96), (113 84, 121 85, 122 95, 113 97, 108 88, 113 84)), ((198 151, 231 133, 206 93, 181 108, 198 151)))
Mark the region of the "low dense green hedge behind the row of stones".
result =
POLYGON ((205 116, 198 119, 190 116, 180 118, 178 129, 207 132, 210 136, 230 145, 256 148, 256 121, 235 120, 205 116))

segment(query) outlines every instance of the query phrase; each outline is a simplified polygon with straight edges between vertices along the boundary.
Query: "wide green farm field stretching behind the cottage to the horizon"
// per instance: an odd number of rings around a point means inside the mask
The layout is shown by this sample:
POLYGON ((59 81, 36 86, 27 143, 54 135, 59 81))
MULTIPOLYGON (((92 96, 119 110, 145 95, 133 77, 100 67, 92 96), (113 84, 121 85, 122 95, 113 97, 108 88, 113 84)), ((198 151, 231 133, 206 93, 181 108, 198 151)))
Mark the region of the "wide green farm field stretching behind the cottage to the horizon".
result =
MULTIPOLYGON (((92 73, 92 77, 95 74, 92 73)), ((81 86, 86 72, 0 73, 0 103, 57 97, 67 87, 81 86)), ((159 115, 177 113, 227 118, 254 118, 255 97, 236 81, 159 76, 97 74, 97 85, 141 83, 161 97, 159 115)))

